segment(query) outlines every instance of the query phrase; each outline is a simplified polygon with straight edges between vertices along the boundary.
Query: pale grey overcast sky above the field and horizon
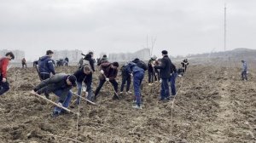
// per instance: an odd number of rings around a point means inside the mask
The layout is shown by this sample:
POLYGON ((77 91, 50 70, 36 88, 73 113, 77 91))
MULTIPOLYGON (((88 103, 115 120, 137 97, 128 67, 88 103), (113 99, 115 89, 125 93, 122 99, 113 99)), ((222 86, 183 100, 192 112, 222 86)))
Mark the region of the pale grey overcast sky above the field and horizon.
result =
POLYGON ((170 54, 256 49, 256 0, 0 0, 0 49, 34 60, 47 49, 170 54), (152 40, 153 39, 153 40, 152 40))

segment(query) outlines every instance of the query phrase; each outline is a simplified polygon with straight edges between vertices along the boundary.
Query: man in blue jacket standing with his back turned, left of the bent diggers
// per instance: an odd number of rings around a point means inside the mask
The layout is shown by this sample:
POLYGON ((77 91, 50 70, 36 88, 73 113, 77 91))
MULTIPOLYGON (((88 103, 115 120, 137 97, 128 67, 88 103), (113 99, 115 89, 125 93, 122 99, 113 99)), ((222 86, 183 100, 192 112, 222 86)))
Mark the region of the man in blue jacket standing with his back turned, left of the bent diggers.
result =
POLYGON ((38 60, 38 68, 39 68, 38 71, 40 74, 40 78, 42 80, 49 78, 50 73, 55 75, 55 68, 54 68, 53 62, 51 60, 51 57, 53 54, 54 54, 53 51, 47 50, 46 55, 44 55, 43 57, 41 57, 38 60))

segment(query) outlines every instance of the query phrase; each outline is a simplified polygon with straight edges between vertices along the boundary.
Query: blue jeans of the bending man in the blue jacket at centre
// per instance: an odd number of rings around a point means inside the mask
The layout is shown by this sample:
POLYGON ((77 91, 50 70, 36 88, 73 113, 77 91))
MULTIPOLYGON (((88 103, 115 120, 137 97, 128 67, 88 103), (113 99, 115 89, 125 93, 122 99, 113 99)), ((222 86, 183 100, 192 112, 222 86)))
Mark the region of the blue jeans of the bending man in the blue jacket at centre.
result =
POLYGON ((141 106, 141 90, 140 86, 143 82, 144 72, 135 72, 133 75, 133 88, 137 106, 141 106))

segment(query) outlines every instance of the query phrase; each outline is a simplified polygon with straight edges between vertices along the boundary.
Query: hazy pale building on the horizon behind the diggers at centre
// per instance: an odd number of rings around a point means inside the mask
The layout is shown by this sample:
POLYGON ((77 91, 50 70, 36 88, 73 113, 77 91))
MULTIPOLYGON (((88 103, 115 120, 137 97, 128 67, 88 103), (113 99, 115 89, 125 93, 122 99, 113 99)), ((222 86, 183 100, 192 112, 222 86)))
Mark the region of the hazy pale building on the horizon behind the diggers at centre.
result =
POLYGON ((126 62, 130 60, 134 60, 135 58, 139 58, 140 60, 149 60, 150 59, 150 50, 149 49, 141 49, 135 53, 119 53, 119 54, 109 54, 109 61, 120 61, 126 62))

